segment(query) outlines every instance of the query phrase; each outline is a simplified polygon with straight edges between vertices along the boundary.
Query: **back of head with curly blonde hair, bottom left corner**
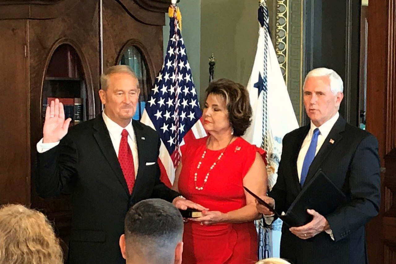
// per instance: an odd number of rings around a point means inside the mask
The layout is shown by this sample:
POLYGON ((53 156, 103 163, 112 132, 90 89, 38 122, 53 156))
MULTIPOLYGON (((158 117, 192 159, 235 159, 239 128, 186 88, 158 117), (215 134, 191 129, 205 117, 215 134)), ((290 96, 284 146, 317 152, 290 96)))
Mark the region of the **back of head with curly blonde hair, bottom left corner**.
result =
POLYGON ((0 209, 0 264, 60 264, 62 256, 42 213, 15 204, 0 209))

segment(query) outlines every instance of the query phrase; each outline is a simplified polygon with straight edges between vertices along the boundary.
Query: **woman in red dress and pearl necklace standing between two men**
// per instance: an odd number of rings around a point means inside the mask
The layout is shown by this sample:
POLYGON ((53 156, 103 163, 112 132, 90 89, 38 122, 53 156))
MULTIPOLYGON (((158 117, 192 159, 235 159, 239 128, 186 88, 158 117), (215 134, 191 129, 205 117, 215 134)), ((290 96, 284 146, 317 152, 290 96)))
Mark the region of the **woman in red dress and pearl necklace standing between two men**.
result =
POLYGON ((250 125, 245 87, 227 79, 209 84, 203 111, 209 136, 181 147, 173 189, 208 208, 185 223, 184 264, 251 264, 257 261, 260 217, 253 196, 266 193, 265 151, 242 139, 250 125), (264 159, 265 160, 265 159, 264 159))

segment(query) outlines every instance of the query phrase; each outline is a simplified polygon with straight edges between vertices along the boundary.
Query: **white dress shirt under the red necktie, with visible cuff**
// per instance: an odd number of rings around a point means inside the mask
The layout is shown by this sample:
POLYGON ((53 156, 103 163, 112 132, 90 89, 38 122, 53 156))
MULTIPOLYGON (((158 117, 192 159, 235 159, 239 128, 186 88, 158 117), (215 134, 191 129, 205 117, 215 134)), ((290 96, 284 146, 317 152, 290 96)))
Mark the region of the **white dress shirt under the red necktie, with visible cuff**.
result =
MULTIPOLYGON (((131 148, 132 155, 133 155, 133 165, 135 167, 135 178, 137 176, 137 169, 139 166, 139 156, 137 154, 137 143, 136 143, 136 136, 135 132, 133 131, 133 126, 132 126, 132 120, 129 122, 129 124, 126 127, 121 127, 118 125, 116 122, 111 120, 106 114, 105 111, 102 112, 103 116, 103 121, 106 124, 107 130, 109 131, 110 134, 110 139, 114 147, 114 151, 116 152, 117 158, 118 158, 118 150, 120 149, 120 142, 121 142, 121 132, 123 129, 126 129, 128 131, 128 144, 129 147, 131 148)), ((59 144, 58 142, 52 142, 52 143, 43 143, 43 139, 40 139, 39 142, 37 142, 36 148, 38 153, 46 152, 47 150, 57 146, 59 144)))

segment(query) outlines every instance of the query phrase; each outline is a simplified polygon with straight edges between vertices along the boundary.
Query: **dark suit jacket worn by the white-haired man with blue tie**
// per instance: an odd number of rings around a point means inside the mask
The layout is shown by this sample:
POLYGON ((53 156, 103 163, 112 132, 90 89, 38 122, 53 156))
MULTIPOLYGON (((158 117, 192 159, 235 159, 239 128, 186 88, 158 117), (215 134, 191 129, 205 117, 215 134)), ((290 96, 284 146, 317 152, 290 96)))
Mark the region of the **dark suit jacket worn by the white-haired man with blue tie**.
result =
POLYGON ((333 231, 303 240, 282 227, 280 256, 294 264, 367 263, 364 224, 379 212, 380 177, 377 139, 349 125, 340 116, 312 161, 303 187, 297 174, 297 157, 310 125, 285 135, 278 179, 269 196, 277 211, 287 211, 318 169, 347 196, 347 202, 325 215, 333 231), (330 139, 334 140, 331 144, 330 139))

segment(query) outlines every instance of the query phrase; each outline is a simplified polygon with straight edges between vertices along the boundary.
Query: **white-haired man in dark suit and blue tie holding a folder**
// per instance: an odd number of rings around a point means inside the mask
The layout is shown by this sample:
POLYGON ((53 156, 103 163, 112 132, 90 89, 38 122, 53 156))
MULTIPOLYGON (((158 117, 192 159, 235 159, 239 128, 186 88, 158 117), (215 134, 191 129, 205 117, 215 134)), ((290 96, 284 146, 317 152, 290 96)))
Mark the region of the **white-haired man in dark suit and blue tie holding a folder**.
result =
MULTIPOLYGON (((328 215, 307 209, 313 219, 304 226, 284 224, 280 256, 294 264, 367 263, 364 225, 378 214, 380 205, 377 139, 339 115, 343 81, 334 70, 311 70, 303 99, 310 125, 285 135, 278 179, 263 199, 286 212, 322 169, 344 192, 346 201, 328 215)), ((266 207, 257 204, 257 210, 266 222, 272 220, 266 207)))

